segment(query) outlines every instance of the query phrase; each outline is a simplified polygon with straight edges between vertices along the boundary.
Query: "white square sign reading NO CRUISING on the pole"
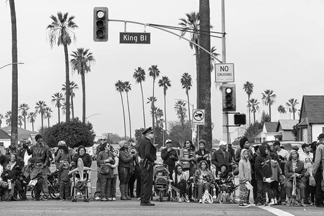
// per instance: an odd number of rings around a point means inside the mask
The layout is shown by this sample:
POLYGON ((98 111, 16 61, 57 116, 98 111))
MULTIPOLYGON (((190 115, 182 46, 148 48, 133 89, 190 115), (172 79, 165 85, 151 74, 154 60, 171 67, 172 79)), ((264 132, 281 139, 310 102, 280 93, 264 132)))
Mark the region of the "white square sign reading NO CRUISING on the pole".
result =
POLYGON ((215 64, 216 82, 234 82, 234 63, 215 64))

